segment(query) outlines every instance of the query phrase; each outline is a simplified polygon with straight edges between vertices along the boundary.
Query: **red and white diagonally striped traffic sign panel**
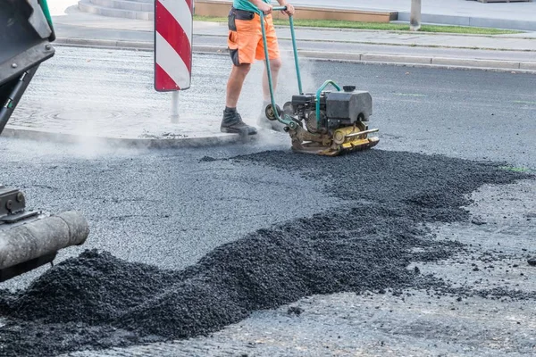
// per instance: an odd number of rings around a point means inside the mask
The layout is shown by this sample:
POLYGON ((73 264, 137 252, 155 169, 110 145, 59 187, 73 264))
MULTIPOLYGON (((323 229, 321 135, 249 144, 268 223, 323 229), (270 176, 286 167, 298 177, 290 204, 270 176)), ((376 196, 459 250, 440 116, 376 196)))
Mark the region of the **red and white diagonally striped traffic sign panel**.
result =
POLYGON ((188 89, 192 73, 194 0, 155 0, 155 89, 188 89))

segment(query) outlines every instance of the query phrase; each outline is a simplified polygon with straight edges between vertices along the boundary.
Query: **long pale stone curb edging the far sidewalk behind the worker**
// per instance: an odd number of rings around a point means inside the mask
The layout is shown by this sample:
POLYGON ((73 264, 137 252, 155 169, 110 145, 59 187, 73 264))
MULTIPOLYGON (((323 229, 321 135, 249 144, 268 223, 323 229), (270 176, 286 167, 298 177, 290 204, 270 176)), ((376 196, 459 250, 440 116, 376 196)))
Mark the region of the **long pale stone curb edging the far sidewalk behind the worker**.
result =
MULTIPOLYGON (((151 51, 154 48, 151 42, 116 41, 86 38, 58 38, 57 44, 64 46, 88 46, 119 49, 133 49, 151 51)), ((226 46, 194 45, 193 50, 199 54, 227 54, 226 46)), ((401 54, 369 54, 369 53, 333 53, 322 51, 298 51, 302 58, 317 61, 356 62, 356 63, 382 63, 399 64, 419 67, 433 67, 444 69, 467 69, 486 71, 517 71, 519 73, 536 74, 536 62, 483 60, 476 58, 456 58, 439 56, 408 56, 401 54)))

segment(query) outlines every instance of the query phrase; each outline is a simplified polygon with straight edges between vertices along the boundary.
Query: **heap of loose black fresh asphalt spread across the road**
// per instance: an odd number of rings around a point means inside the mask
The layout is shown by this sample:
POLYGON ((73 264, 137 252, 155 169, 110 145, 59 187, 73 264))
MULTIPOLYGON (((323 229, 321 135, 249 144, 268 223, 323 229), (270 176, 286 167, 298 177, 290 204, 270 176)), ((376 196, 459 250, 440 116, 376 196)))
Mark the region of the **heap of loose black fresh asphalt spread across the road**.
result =
MULTIPOLYGON (((209 159, 199 164, 210 168, 209 159)), ((237 237, 181 271, 82 253, 21 292, 0 292, 0 316, 7 318, 0 354, 54 355, 204 335, 308 295, 440 289, 443 282, 408 265, 448 258, 464 246, 431 239, 423 223, 469 220, 462 206, 475 189, 528 178, 495 163, 381 150, 230 160, 321 179, 341 207, 322 212, 319 202, 321 213, 237 237)))

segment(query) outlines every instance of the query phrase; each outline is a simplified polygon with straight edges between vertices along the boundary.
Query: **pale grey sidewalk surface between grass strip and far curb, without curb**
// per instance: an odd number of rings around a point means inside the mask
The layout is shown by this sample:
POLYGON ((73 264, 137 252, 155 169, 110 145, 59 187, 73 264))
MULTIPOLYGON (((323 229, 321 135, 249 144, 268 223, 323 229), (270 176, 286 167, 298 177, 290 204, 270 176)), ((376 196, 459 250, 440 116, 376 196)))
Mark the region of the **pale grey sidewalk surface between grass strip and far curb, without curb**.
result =
MULTIPOLYGON (((58 37, 85 37, 96 39, 117 39, 150 42, 154 24, 150 21, 115 19, 71 10, 66 16, 54 17, 58 37), (115 30, 115 31, 114 31, 115 30)), ((226 24, 194 21, 194 36, 227 37, 226 24)), ((289 38, 289 30, 281 27, 280 38, 289 38)), ((368 31, 352 29, 297 30, 297 39, 302 41, 368 43, 394 46, 431 46, 449 48, 489 48, 494 50, 536 51, 532 39, 534 33, 524 32, 513 35, 478 36, 437 33, 368 31)), ((194 40, 194 43, 196 41, 194 40)), ((224 45, 225 43, 223 43, 224 45)), ((319 45, 322 47, 322 45, 319 45)))

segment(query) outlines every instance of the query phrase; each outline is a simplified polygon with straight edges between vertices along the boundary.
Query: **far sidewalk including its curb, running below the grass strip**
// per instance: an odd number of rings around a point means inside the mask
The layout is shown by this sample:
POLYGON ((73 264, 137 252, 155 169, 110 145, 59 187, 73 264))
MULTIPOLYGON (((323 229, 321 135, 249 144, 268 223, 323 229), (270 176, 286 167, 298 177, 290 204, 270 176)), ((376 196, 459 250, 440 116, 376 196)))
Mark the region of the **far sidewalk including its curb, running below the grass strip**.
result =
MULTIPOLYGON (((71 10, 54 17, 59 44, 153 48, 153 23, 107 18, 71 10)), ((194 50, 226 51, 224 23, 195 21, 194 50)), ((536 33, 470 36, 351 29, 300 28, 303 57, 404 64, 460 66, 508 71, 536 71, 536 33)), ((278 29, 281 47, 291 49, 289 29, 278 29)))

